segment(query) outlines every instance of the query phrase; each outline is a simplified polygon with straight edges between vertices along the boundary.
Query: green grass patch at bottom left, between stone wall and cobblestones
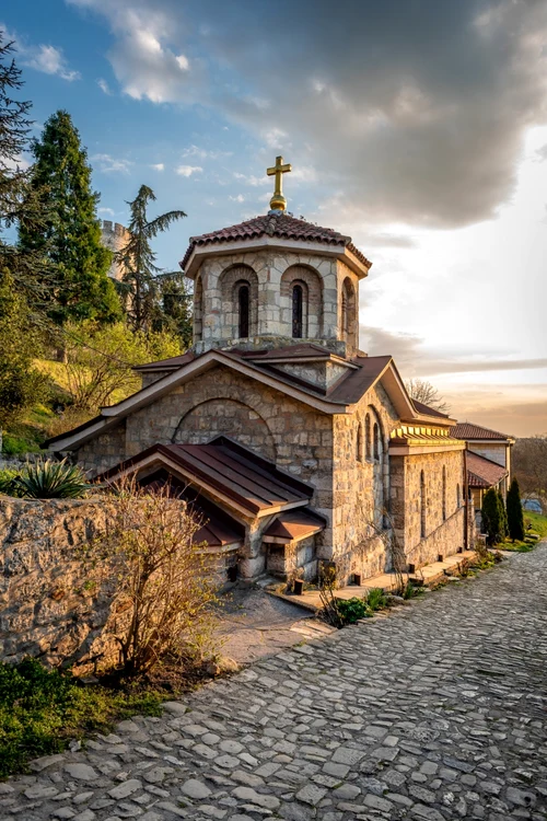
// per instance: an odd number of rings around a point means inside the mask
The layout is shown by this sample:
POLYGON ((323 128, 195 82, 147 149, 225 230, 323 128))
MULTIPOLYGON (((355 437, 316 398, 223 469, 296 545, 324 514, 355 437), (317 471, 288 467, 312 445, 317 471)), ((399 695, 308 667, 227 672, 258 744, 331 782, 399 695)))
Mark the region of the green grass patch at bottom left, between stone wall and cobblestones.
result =
POLYGON ((85 685, 35 659, 0 662, 0 777, 24 772, 32 759, 61 752, 72 738, 105 732, 136 714, 161 715, 161 704, 195 682, 136 681, 85 685))

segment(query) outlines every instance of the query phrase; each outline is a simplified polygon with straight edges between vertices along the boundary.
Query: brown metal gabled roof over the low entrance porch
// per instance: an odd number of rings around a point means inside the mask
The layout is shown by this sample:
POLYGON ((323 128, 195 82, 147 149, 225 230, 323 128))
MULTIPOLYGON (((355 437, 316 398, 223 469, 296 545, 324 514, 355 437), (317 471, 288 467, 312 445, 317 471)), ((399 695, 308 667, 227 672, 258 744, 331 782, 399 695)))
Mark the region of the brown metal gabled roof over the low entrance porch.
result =
POLYGON ((148 464, 154 456, 179 466, 194 485, 212 488, 252 516, 306 505, 313 496, 310 485, 226 437, 209 444, 154 444, 97 479, 112 479, 128 469, 138 471, 139 464, 148 464))

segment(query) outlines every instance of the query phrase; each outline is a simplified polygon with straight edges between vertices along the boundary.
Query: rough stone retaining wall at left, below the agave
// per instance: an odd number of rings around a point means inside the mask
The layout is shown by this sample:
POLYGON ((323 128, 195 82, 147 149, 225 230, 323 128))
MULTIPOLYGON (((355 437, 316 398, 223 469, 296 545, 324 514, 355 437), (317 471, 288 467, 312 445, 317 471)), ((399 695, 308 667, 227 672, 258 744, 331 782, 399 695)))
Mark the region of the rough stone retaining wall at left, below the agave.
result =
POLYGON ((110 601, 85 586, 78 546, 104 529, 98 500, 0 499, 0 651, 60 663, 112 652, 102 639, 110 601))

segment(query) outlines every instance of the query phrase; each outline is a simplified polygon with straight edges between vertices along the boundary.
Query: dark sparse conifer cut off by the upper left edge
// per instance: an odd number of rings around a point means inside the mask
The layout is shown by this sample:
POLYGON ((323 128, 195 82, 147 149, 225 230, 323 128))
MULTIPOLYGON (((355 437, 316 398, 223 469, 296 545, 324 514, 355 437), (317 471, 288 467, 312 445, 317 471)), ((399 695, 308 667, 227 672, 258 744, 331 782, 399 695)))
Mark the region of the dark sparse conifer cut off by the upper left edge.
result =
POLYGON ((26 297, 33 309, 28 320, 34 321, 53 287, 51 268, 42 253, 20 248, 7 236, 10 229, 21 224, 42 229, 47 216, 40 192, 31 187, 31 172, 22 159, 28 147, 31 103, 13 100, 23 85, 13 50, 13 43, 5 43, 0 31, 0 271, 8 273, 11 287, 26 297))

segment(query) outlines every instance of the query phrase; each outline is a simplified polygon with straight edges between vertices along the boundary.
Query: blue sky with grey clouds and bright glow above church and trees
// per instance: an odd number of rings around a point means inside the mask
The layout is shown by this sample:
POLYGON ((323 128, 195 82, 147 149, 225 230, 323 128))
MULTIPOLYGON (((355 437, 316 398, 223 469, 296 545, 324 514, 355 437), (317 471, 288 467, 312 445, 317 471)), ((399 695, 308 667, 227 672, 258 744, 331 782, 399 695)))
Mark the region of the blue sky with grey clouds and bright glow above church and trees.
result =
POLYGON ((100 217, 143 183, 187 213, 162 267, 265 213, 282 154, 289 210, 373 262, 361 347, 461 420, 547 433, 545 0, 19 0, 0 26, 35 135, 70 112, 100 217))

